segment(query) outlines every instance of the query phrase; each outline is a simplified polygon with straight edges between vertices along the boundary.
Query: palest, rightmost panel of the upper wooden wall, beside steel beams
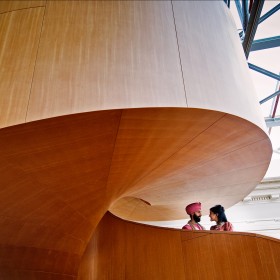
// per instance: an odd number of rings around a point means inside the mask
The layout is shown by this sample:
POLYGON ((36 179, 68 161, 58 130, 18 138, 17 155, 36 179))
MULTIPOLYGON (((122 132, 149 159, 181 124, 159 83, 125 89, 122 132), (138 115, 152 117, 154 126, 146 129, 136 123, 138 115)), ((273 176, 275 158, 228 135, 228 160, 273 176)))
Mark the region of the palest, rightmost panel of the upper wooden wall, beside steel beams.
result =
POLYGON ((223 1, 172 3, 188 106, 227 112, 265 128, 228 7, 223 1))

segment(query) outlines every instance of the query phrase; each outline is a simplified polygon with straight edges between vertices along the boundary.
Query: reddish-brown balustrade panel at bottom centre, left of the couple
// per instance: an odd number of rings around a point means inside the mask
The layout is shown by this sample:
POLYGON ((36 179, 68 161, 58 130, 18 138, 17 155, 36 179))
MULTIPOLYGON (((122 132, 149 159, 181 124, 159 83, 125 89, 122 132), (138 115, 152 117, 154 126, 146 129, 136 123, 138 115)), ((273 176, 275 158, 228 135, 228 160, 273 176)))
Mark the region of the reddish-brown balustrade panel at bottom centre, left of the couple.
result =
POLYGON ((78 279, 185 279, 182 257, 180 231, 159 232, 106 214, 83 256, 78 279))

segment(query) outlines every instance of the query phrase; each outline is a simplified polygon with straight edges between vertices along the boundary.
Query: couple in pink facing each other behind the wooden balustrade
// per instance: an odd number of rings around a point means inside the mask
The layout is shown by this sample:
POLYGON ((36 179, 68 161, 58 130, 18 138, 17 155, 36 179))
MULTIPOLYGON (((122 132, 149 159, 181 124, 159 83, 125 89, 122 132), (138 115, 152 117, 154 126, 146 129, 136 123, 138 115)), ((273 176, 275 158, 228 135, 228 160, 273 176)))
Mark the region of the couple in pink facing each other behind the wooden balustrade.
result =
MULTIPOLYGON (((205 230, 205 228, 199 224, 201 218, 201 203, 195 202, 187 205, 186 212, 190 215, 189 222, 183 226, 182 229, 187 230, 205 230)), ((233 231, 233 226, 227 221, 225 209, 222 205, 216 205, 210 208, 210 221, 216 222, 216 225, 211 226, 210 230, 218 231, 233 231)))

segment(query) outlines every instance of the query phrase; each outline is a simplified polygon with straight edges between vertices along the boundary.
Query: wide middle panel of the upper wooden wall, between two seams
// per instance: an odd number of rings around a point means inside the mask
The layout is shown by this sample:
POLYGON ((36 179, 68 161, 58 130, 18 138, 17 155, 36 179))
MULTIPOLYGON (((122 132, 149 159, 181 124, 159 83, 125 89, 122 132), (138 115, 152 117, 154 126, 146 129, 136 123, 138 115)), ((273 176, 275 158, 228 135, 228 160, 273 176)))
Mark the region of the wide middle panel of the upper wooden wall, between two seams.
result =
POLYGON ((49 1, 28 121, 186 106, 169 1, 49 1))

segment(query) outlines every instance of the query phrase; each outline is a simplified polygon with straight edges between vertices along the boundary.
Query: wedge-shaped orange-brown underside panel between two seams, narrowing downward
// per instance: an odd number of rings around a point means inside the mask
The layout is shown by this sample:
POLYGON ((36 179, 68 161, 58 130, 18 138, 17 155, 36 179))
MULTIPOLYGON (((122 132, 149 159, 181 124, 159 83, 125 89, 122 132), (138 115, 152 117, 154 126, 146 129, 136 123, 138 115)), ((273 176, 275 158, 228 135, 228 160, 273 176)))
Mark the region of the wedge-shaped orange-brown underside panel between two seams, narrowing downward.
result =
MULTIPOLYGON (((224 116, 219 112, 183 108, 148 108, 142 112, 123 110, 122 113, 107 184, 108 191, 116 197, 129 195, 133 189, 141 190, 139 181, 150 178, 163 163, 170 162, 178 151, 224 116)), ((150 183, 147 183, 149 188, 150 183)))

